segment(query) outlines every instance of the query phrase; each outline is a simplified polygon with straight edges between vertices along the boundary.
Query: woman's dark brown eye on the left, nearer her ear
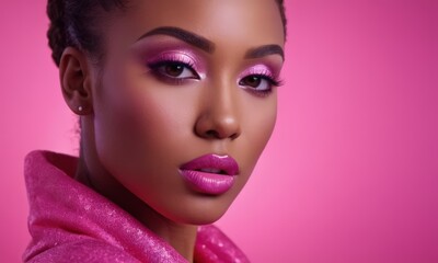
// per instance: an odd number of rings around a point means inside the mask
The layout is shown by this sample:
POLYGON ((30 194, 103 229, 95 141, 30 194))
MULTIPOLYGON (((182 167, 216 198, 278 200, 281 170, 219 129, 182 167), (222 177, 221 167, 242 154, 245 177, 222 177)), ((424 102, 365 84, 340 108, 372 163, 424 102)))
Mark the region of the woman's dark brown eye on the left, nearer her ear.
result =
POLYGON ((177 61, 161 61, 149 65, 154 73, 170 79, 199 79, 199 75, 187 64, 177 61))

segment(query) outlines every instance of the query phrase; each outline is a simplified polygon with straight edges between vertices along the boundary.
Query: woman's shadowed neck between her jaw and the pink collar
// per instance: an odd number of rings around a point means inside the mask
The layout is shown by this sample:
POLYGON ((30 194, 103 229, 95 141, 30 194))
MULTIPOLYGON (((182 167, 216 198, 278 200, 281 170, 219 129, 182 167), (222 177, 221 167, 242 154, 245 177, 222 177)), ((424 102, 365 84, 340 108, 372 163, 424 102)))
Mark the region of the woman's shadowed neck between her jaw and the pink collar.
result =
POLYGON ((197 233, 196 226, 174 222, 163 217, 106 172, 100 172, 99 174, 96 176, 90 173, 81 150, 76 179, 128 211, 143 226, 172 245, 188 262, 193 262, 197 233))

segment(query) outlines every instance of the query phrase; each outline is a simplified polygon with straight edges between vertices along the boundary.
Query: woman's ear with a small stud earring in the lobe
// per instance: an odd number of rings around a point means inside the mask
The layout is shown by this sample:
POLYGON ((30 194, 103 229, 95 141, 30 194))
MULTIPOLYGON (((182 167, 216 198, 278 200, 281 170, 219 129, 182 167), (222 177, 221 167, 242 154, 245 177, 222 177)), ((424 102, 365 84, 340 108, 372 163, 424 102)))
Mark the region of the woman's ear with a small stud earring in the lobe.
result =
POLYGON ((78 115, 93 112, 91 64, 85 54, 67 47, 59 62, 59 78, 67 105, 78 115))

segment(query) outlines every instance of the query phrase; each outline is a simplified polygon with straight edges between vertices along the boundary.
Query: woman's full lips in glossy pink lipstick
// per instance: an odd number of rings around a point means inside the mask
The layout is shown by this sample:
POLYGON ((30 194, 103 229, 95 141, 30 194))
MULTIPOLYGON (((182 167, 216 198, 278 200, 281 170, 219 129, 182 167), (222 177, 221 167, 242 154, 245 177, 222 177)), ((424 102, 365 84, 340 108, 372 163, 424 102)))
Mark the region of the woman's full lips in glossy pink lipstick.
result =
POLYGON ((181 165, 180 173, 192 190, 220 195, 234 184, 239 164, 229 156, 206 155, 181 165))

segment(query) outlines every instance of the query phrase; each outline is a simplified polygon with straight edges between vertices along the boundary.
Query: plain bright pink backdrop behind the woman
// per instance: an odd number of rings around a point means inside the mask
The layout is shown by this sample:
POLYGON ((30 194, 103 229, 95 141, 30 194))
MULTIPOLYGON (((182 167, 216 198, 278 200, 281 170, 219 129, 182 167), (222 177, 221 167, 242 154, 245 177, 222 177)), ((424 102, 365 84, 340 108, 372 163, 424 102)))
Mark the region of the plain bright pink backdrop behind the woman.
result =
MULTIPOLYGON (((438 262, 438 1, 286 0, 270 145, 219 225, 253 262, 438 262)), ((74 153, 45 3, 0 9, 0 258, 28 235, 26 152, 74 153)))

